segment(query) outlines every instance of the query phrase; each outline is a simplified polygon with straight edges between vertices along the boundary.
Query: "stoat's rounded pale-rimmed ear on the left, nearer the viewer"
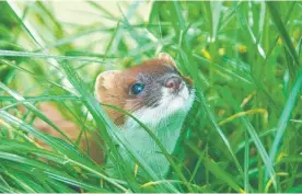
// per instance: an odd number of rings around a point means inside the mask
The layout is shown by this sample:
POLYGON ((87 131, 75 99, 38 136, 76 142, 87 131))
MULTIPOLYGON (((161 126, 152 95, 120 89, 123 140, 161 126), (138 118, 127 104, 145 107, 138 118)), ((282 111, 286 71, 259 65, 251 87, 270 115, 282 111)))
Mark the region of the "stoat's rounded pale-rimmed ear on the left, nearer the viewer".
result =
POLYGON ((104 90, 114 88, 114 78, 119 72, 120 71, 117 70, 107 70, 97 76, 94 87, 94 94, 100 102, 102 91, 105 92, 104 90))

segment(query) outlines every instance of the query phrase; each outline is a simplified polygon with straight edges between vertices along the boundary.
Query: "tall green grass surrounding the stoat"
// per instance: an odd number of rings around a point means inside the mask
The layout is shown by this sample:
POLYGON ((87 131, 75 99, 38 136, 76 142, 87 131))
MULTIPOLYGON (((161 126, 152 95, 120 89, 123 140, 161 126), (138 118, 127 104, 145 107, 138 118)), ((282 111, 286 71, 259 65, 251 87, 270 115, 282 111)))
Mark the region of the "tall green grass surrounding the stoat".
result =
POLYGON ((51 2, 0 2, 1 192, 302 192, 301 2, 154 2, 148 21, 139 12, 147 2, 113 2, 118 14, 82 3, 97 13, 78 13, 90 24, 60 20, 51 2), (103 107, 129 113, 93 95, 100 72, 159 52, 175 58, 197 94, 167 156, 167 178, 148 167, 103 107), (74 124, 76 139, 43 104, 74 124), (42 121, 61 138, 37 130, 42 121), (93 148, 81 148, 89 136, 102 137, 121 179, 91 159, 93 148))

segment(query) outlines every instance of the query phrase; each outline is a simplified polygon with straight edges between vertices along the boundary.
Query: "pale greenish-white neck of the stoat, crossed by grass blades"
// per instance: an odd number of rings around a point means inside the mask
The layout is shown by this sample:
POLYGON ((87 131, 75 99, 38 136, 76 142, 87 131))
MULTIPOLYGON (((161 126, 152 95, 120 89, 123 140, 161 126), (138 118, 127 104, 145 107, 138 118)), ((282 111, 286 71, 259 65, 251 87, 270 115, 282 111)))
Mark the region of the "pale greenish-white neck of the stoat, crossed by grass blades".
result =
MULTIPOLYGON (((156 126, 146 123, 170 155, 175 149, 185 116, 185 113, 176 113, 163 119, 156 126)), ((166 175, 170 163, 146 129, 131 119, 123 126, 123 133, 128 142, 146 159, 156 174, 166 175)))

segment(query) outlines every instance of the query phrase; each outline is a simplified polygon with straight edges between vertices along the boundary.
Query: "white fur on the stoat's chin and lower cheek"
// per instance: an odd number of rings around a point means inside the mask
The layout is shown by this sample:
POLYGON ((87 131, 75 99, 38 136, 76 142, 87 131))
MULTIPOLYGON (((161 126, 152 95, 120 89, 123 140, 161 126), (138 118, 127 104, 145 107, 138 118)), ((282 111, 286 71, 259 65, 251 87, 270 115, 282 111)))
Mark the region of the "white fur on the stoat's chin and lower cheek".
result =
MULTIPOLYGON (((189 91, 184 87, 177 94, 167 88, 162 88, 162 99, 155 107, 141 107, 132 113, 140 122, 156 128, 160 123, 165 123, 166 118, 174 114, 185 117, 194 102, 194 91, 189 91)), ((124 127, 132 127, 133 122, 126 122, 124 127)))

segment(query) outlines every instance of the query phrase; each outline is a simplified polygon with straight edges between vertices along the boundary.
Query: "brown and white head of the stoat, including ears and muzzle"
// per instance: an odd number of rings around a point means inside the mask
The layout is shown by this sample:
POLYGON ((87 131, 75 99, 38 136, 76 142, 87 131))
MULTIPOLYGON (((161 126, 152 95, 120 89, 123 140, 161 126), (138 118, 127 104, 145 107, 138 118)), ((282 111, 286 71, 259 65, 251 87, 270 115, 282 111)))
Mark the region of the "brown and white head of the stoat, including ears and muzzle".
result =
MULTIPOLYGON (((176 113, 186 115, 194 101, 191 80, 179 73, 167 54, 124 71, 102 72, 96 79, 95 95, 100 102, 124 109, 142 123, 153 125, 176 113)), ((127 121, 121 113, 105 111, 117 125, 127 121)))

